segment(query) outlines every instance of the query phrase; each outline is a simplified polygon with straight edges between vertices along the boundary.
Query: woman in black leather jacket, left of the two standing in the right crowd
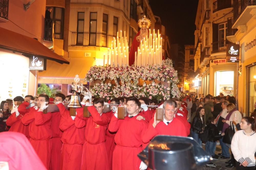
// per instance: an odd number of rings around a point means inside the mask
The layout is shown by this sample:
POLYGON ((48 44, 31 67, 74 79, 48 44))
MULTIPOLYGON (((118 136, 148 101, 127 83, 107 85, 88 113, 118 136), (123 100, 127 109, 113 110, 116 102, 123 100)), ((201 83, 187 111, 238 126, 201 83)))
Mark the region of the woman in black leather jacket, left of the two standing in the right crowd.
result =
POLYGON ((192 137, 201 145, 200 133, 203 133, 205 127, 205 109, 199 107, 196 111, 196 116, 192 121, 192 137))

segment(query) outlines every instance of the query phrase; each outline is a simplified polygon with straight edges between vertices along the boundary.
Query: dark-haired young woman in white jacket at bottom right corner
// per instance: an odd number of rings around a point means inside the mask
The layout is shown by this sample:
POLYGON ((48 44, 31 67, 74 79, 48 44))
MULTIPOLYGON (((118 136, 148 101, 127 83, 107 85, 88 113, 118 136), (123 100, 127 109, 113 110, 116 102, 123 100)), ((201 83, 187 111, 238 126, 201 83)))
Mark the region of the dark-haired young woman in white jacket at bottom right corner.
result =
POLYGON ((253 170, 255 167, 256 134, 254 117, 243 117, 240 123, 242 130, 237 131, 231 142, 231 151, 236 160, 237 170, 253 170))

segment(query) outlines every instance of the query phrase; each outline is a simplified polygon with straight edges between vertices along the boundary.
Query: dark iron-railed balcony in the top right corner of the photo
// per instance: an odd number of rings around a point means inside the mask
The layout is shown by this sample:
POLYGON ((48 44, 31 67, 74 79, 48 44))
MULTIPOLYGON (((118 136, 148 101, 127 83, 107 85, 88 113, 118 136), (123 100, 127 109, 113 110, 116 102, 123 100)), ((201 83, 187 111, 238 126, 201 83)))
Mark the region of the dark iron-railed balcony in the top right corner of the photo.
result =
POLYGON ((256 0, 233 0, 234 22, 248 6, 256 5, 256 0))

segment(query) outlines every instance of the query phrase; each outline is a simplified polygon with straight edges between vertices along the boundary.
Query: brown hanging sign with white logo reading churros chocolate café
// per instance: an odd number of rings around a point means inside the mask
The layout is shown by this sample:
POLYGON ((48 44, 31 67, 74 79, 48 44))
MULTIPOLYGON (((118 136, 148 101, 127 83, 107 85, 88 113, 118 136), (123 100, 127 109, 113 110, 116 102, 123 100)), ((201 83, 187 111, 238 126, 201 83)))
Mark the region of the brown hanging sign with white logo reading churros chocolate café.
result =
POLYGON ((227 44, 226 48, 226 62, 239 62, 239 44, 227 44))

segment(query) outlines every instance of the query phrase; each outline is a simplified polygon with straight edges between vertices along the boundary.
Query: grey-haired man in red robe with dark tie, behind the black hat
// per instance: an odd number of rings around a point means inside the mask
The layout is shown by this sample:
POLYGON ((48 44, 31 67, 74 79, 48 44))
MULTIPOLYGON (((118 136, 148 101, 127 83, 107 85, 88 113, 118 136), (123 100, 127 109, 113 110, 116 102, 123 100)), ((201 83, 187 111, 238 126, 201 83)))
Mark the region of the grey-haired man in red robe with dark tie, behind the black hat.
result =
POLYGON ((177 104, 174 100, 166 100, 163 104, 164 120, 157 121, 156 114, 154 119, 148 124, 148 129, 143 135, 143 142, 148 143, 157 135, 172 135, 187 137, 186 128, 182 121, 175 117, 177 104))

